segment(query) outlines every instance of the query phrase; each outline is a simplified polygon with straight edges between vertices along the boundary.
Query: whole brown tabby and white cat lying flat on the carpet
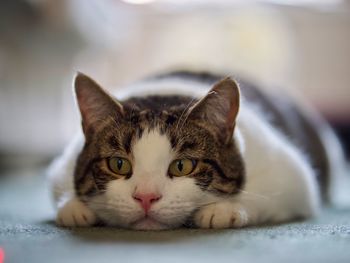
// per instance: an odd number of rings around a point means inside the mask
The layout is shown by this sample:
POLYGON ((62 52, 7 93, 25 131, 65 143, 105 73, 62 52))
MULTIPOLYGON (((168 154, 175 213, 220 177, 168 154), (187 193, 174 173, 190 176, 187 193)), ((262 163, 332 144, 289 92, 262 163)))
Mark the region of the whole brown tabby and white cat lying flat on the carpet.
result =
POLYGON ((116 97, 78 73, 74 89, 82 132, 49 172, 59 226, 241 228, 312 217, 328 199, 334 136, 288 100, 193 72, 116 97))

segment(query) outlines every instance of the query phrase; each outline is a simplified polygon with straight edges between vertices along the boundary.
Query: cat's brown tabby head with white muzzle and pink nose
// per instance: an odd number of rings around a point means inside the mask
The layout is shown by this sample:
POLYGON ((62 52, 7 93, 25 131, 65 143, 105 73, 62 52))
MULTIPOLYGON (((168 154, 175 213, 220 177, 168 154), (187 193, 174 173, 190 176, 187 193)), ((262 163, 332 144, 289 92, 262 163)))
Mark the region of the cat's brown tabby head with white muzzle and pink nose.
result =
POLYGON ((106 224, 179 227, 242 187, 244 164, 233 136, 239 89, 232 79, 200 100, 118 101, 83 74, 74 85, 85 135, 76 192, 106 224))

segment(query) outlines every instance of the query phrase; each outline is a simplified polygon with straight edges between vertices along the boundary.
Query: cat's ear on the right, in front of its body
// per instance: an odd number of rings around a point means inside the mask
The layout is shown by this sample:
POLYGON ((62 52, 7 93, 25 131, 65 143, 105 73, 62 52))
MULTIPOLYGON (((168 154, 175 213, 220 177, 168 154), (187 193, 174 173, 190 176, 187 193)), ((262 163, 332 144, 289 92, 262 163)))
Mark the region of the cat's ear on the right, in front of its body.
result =
POLYGON ((228 143, 232 138, 239 103, 238 84, 231 78, 225 78, 216 83, 208 94, 189 110, 189 114, 214 125, 218 137, 223 143, 228 143))

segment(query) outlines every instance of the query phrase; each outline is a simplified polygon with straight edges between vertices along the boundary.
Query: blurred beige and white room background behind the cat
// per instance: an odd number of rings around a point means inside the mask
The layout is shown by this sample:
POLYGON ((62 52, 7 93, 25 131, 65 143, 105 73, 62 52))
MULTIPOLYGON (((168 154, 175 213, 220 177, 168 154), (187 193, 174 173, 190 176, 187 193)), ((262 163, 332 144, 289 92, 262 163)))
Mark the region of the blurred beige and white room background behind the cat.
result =
POLYGON ((299 93, 349 147, 349 0, 1 0, 1 167, 62 151, 77 70, 113 89, 171 69, 299 93))

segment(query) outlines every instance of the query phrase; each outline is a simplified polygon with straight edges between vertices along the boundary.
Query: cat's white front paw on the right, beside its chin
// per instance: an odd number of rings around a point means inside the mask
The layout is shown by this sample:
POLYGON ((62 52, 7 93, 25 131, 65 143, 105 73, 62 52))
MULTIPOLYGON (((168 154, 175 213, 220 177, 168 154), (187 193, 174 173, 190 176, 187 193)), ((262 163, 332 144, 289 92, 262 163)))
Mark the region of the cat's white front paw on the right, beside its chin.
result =
POLYGON ((239 228, 248 224, 248 215, 241 205, 219 202, 202 207, 194 222, 200 228, 239 228))

